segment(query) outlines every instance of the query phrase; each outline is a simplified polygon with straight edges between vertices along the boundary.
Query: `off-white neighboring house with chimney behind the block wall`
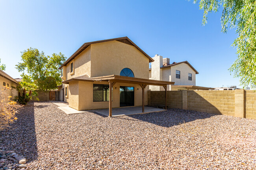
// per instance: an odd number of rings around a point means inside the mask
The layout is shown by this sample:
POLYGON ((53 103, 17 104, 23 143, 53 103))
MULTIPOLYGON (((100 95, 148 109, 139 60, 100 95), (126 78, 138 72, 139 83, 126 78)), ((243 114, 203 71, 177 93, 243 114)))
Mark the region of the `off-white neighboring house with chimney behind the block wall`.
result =
MULTIPOLYGON (((189 62, 173 62, 170 64, 169 58, 163 58, 158 54, 153 59, 154 62, 151 63, 151 68, 149 69, 149 79, 175 82, 175 85, 168 85, 167 90, 213 89, 196 86, 196 74, 198 72, 189 62)), ((165 89, 161 86, 149 86, 149 90, 160 91, 165 89)))

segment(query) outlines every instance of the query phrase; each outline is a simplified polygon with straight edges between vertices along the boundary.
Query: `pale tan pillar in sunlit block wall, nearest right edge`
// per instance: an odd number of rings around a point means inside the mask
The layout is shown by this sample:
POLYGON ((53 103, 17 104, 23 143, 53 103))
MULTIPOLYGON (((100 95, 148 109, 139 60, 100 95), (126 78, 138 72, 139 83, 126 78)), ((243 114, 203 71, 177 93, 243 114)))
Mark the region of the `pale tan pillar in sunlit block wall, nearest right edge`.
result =
POLYGON ((235 90, 235 117, 245 117, 244 94, 243 89, 235 90))

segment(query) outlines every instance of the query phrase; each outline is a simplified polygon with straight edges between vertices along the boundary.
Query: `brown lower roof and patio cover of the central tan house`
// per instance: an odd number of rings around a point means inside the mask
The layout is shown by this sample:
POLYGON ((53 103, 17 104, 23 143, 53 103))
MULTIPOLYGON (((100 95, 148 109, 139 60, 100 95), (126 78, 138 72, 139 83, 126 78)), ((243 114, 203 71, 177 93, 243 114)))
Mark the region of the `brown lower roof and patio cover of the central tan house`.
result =
POLYGON ((62 83, 69 84, 70 81, 89 81, 89 82, 111 81, 111 82, 123 82, 123 83, 130 83, 130 84, 147 84, 147 85, 155 85, 155 86, 166 86, 168 84, 174 84, 174 82, 169 82, 169 81, 141 79, 141 78, 135 78, 135 77, 126 77, 121 75, 107 75, 107 76, 92 77, 92 78, 90 78, 88 75, 82 75, 69 80, 65 80, 62 83))

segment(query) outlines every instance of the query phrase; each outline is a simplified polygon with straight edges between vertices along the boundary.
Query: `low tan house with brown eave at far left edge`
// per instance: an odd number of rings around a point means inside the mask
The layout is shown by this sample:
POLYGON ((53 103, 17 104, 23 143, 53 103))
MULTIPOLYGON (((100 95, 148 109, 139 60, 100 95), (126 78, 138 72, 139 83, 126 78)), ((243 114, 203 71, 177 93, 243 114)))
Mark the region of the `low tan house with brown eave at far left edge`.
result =
MULTIPOLYGON (((0 86, 7 86, 11 88, 11 86, 16 87, 17 84, 18 82, 15 79, 0 69, 0 86)), ((14 97, 18 95, 18 91, 14 88, 11 88, 11 90, 7 92, 7 95, 12 96, 12 99, 14 99, 14 97)))

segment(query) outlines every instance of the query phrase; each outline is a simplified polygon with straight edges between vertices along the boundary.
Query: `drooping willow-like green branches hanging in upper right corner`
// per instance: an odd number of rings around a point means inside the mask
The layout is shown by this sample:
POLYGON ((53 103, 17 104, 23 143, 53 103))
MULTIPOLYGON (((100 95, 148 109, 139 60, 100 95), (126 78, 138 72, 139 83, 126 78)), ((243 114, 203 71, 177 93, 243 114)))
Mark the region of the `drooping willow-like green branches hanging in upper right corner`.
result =
MULTIPOLYGON (((194 0, 194 3, 197 3, 194 0)), ((232 46, 237 49, 237 59, 229 68, 241 85, 256 88, 256 1, 255 0, 200 0, 204 11, 202 24, 207 23, 209 12, 222 9, 222 32, 236 28, 237 38, 232 46)))

